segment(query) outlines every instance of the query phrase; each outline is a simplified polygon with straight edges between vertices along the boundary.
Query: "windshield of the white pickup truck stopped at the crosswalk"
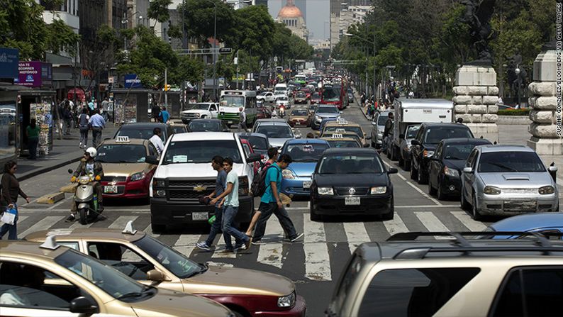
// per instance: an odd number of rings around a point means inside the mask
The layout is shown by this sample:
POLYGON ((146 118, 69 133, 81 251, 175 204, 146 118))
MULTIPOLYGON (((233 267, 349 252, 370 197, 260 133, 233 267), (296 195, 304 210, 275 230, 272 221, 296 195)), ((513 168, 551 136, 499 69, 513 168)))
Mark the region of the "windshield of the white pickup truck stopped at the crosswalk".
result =
POLYGON ((235 140, 194 140, 169 143, 162 164, 209 163, 215 155, 230 157, 235 163, 243 162, 235 140))

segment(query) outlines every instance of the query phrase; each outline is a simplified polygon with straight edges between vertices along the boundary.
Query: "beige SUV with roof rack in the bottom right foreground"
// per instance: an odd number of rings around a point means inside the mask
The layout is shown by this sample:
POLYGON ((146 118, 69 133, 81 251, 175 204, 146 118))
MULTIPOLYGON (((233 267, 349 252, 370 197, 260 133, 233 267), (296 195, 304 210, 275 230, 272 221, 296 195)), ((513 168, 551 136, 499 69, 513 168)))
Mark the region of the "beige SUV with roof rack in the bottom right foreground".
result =
POLYGON ((522 233, 529 237, 523 239, 469 240, 475 234, 399 233, 383 243, 360 245, 340 275, 326 315, 559 315, 563 241, 530 233, 522 233), (416 240, 435 235, 450 239, 416 240))

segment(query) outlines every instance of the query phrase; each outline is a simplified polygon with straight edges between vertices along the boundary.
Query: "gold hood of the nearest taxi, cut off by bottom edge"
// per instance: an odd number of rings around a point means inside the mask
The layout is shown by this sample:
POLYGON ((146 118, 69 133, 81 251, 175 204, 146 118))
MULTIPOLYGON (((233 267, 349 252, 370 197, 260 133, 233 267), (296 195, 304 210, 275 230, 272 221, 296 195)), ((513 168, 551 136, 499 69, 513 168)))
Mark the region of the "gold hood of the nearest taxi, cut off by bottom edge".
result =
POLYGON ((230 311, 216 301, 204 297, 158 289, 158 294, 146 301, 128 303, 137 316, 230 316, 230 311))

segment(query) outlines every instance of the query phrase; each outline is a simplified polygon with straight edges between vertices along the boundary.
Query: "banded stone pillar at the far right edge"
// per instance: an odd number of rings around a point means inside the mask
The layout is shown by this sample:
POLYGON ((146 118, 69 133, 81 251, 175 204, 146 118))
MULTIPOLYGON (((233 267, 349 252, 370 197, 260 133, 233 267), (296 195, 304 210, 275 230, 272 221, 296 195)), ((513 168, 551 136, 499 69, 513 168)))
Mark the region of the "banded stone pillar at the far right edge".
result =
MULTIPOLYGON (((528 146, 540 155, 562 155, 563 139, 557 135, 557 55, 554 48, 545 47, 534 61, 534 82, 528 86, 530 126, 528 146)), ((561 127, 559 127, 561 128, 561 127)))

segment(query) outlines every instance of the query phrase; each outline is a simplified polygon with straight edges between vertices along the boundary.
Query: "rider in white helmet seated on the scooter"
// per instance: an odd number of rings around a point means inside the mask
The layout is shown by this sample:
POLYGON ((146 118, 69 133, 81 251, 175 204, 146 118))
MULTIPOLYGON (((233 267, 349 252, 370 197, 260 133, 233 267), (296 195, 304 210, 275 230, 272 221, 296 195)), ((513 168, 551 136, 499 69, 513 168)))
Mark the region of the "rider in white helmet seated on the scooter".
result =
MULTIPOLYGON (((104 201, 101 193, 101 177, 104 176, 104 167, 101 166, 101 162, 94 161, 94 157, 98 154, 95 148, 87 148, 84 151, 84 157, 80 160, 80 163, 77 169, 72 174, 70 178, 70 182, 74 183, 77 182, 78 177, 89 175, 91 179, 94 179, 92 182, 92 186, 94 187, 94 191, 96 191, 96 195, 98 196, 98 212, 101 213, 104 211, 104 201)), ((66 222, 75 221, 77 213, 77 204, 72 202, 70 216, 68 216, 66 222)))

